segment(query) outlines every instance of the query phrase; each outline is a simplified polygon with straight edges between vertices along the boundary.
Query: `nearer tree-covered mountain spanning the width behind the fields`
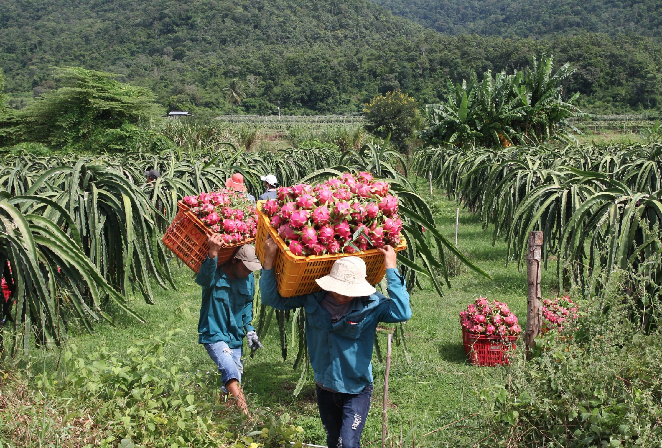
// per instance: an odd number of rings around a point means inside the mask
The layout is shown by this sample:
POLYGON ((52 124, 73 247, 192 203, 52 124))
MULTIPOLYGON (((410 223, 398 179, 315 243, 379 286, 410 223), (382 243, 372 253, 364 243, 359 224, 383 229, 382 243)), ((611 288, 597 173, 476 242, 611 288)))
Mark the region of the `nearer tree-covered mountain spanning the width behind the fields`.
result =
POLYGON ((236 80, 245 98, 234 113, 275 113, 278 101, 283 113, 350 113, 395 89, 438 102, 447 78, 512 73, 542 53, 578 69, 564 95, 581 92, 585 109, 657 107, 662 95, 662 50, 634 34, 449 35, 368 0, 5 0, 0 9, 10 97, 53 89, 52 67, 69 65, 148 87, 168 109, 230 113, 236 80))

